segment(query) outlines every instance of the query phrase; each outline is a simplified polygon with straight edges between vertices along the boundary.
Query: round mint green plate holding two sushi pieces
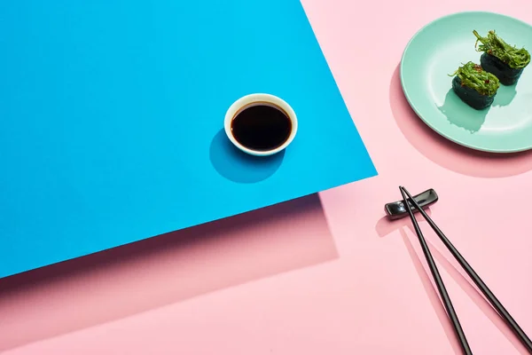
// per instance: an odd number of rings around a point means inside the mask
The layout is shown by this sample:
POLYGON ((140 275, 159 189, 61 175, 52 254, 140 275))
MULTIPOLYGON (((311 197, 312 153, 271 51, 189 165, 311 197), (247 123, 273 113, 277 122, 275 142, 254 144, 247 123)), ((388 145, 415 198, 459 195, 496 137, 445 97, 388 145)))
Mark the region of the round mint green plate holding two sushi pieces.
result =
POLYGON ((451 89, 449 76, 475 51, 476 29, 494 29, 507 43, 532 51, 532 26, 491 12, 460 12, 421 28, 403 52, 401 84, 406 99, 430 128, 462 146, 493 153, 532 148, 532 64, 517 84, 501 84, 493 105, 477 111, 451 89))

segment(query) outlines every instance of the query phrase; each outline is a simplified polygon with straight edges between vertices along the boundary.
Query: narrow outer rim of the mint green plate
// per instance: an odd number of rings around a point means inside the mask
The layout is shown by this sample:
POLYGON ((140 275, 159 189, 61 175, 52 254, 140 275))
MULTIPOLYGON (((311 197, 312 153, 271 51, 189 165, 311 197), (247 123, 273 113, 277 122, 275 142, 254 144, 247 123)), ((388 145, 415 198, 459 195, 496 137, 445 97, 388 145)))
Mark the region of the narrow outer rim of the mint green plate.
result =
POLYGON ((441 21, 441 20, 445 20, 447 18, 455 17, 455 16, 458 16, 458 15, 464 15, 464 14, 471 14, 471 15, 474 15, 474 14, 496 15, 496 16, 504 17, 504 18, 509 19, 509 20, 520 22, 521 24, 526 25, 528 28, 530 28, 532 30, 532 25, 529 24, 528 22, 526 22, 524 20, 517 19, 515 17, 512 17, 510 15, 507 15, 507 14, 501 13, 501 12, 489 12, 489 11, 450 12, 450 13, 448 13, 446 15, 440 16, 440 17, 438 17, 438 18, 436 18, 434 20, 429 21, 424 26, 419 28, 414 33, 414 35, 411 36, 410 40, 408 41, 408 43, 406 43, 406 46, 404 47, 403 54, 401 56, 401 62, 399 64, 399 78, 400 78, 400 81, 401 81, 401 88, 403 90, 403 95, 404 95, 405 99, 407 100, 409 106, 411 106, 411 109, 419 117, 421 122, 424 122, 426 124, 426 126, 428 128, 430 128, 431 130, 433 130, 435 133, 439 134, 443 138, 446 138, 446 139, 450 140, 451 142, 454 142, 454 143, 458 144, 459 146, 464 146, 464 147, 466 147, 468 149, 473 149, 473 150, 479 151, 479 152, 495 153, 495 154, 514 154, 514 153, 522 153, 522 152, 527 152, 529 150, 532 150, 532 142, 530 144, 528 144, 528 146, 524 146, 524 147, 521 147, 521 148, 515 148, 515 149, 489 149, 489 148, 482 148, 482 147, 479 147, 479 146, 474 146, 474 145, 468 144, 466 142, 461 141, 460 139, 451 137, 449 134, 444 134, 442 131, 437 130, 434 127, 434 125, 432 125, 428 120, 426 120, 426 118, 423 117, 423 115, 419 112, 420 111, 419 108, 416 106, 416 104, 414 104, 412 102, 411 96, 408 93, 408 89, 406 88, 406 85, 404 83, 404 78, 403 78, 403 70, 404 70, 404 64, 403 63, 404 63, 404 59, 406 57, 406 53, 409 50, 409 48, 411 47, 411 43, 413 43, 415 41, 415 39, 419 36, 419 34, 421 34, 423 31, 425 31, 426 28, 434 25, 435 22, 441 21))

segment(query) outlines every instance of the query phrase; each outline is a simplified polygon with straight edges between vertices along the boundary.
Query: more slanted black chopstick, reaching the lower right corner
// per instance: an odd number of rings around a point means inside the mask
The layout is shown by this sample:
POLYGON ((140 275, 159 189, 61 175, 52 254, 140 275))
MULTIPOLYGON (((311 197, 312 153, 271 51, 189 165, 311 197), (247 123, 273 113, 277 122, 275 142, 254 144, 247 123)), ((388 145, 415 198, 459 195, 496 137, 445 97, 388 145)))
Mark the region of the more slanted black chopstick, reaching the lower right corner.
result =
MULTIPOLYGON (((418 202, 416 202, 412 198, 411 194, 408 191, 406 191, 406 189, 403 186, 401 186, 400 188, 401 188, 401 193, 404 192, 404 193, 406 193, 408 195, 408 198, 409 198, 411 204, 416 209, 419 210, 421 215, 426 219, 426 222, 428 222, 428 224, 432 227, 434 232, 436 234, 438 234, 438 237, 440 237, 440 239, 442 240, 443 244, 445 244, 445 246, 449 249, 449 251, 452 254, 452 256, 454 256, 457 259, 458 264, 460 264, 464 268, 465 272, 467 272, 467 274, 473 280, 475 285, 478 288, 481 289, 482 294, 484 294, 484 296, 486 296, 486 298, 488 298, 489 303, 493 306, 493 308, 496 309, 496 311, 499 313, 499 315, 503 319, 505 319, 505 322, 508 325, 508 327, 512 328, 513 333, 520 339, 520 342, 527 348, 528 352, 530 352, 532 354, 532 341, 530 341, 530 338, 528 338, 528 335, 525 334, 523 329, 521 329, 519 324, 517 324, 517 322, 512 318, 510 313, 508 311, 506 311, 506 309, 503 306, 503 304, 501 304, 500 301, 497 299, 497 297, 495 295, 493 295, 493 293, 489 290, 488 286, 486 286, 484 281, 481 280, 479 275, 476 272, 474 272, 474 270, 471 267, 471 265, 468 264, 465 261, 464 256, 460 255, 460 253, 458 252, 458 249, 455 248, 452 245, 452 243, 447 239, 447 237, 445 236, 445 234, 443 234, 443 232, 440 230, 440 228, 438 228, 438 226, 434 223, 434 221, 430 217, 428 217, 428 215, 426 214, 425 210, 419 207, 418 202)), ((403 194, 403 198, 404 198, 404 194, 403 194)), ((405 206, 408 206, 408 205, 405 204, 405 206)), ((410 209, 408 209, 408 210, 410 211, 410 209)), ((412 213, 411 213, 411 215, 413 216, 412 213)))

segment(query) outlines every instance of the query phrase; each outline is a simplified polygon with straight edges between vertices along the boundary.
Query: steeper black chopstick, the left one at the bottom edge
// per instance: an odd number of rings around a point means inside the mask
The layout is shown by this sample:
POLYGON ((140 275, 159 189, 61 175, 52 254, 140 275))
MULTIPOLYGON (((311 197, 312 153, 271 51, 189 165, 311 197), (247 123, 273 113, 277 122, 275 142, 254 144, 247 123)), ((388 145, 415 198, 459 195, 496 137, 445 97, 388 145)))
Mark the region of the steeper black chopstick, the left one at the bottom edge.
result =
POLYGON ((426 245, 425 237, 423 237, 423 233, 421 233, 421 229, 419 229, 418 221, 416 220, 416 217, 414 217, 414 213, 412 212, 412 210, 409 208, 407 197, 404 194, 406 193, 406 190, 404 190, 403 186, 399 186, 399 190, 401 190, 401 194, 403 194, 404 206, 406 206, 406 209, 408 210, 408 214, 411 217, 412 225, 414 225, 416 234, 418 234, 419 244, 421 244, 421 248, 423 249, 423 254, 425 254, 425 257, 426 257, 426 262, 430 268, 430 272, 432 272, 433 274, 434 280, 436 282, 436 286, 438 287, 438 291, 440 292, 440 296, 442 297, 443 305, 445 306, 445 310, 447 310, 447 314, 449 315, 449 318, 452 321, 452 325, 458 336, 458 340, 460 341, 462 350, 464 351, 466 355, 473 355, 473 352, 471 351, 471 348, 469 347, 469 343, 467 343, 467 339, 465 338, 464 329, 462 329, 462 326, 460 325, 460 321, 458 320, 457 313, 454 310, 452 302, 450 302, 450 297, 449 297, 449 294, 447 293, 447 289, 445 288, 445 285, 443 285, 442 276, 440 276, 440 272, 438 272, 438 268, 436 267, 436 264, 434 263, 434 258, 432 254, 430 253, 428 246, 426 245))

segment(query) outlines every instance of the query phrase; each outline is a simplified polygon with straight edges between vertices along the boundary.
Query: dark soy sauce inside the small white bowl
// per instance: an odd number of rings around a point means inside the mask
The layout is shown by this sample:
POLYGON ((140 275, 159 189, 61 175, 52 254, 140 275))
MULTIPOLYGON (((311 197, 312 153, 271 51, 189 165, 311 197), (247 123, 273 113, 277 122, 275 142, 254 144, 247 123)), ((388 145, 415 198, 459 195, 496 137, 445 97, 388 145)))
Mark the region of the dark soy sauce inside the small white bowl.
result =
POLYGON ((290 137, 292 121, 278 106, 254 103, 235 115, 231 131, 242 146, 255 151, 269 151, 282 146, 290 137))

